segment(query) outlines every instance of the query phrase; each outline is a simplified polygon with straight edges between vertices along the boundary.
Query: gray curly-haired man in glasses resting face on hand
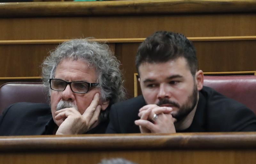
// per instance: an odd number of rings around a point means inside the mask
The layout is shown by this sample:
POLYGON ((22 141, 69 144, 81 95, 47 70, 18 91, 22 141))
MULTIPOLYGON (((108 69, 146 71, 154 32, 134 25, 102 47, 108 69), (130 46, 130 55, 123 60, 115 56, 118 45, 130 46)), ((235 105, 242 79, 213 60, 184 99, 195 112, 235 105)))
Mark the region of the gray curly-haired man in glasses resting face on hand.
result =
POLYGON ((11 105, 0 118, 0 135, 105 133, 110 104, 125 96, 119 64, 106 44, 62 43, 42 64, 51 107, 11 105))

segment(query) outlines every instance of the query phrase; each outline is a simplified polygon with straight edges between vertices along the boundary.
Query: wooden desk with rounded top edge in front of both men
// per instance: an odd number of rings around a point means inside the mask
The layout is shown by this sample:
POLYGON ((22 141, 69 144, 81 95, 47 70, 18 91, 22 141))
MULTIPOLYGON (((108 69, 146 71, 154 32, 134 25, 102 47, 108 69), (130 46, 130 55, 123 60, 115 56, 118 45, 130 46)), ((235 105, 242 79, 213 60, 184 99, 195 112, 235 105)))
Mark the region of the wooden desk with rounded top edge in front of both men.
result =
POLYGON ((0 163, 250 164, 256 132, 0 137, 0 163))

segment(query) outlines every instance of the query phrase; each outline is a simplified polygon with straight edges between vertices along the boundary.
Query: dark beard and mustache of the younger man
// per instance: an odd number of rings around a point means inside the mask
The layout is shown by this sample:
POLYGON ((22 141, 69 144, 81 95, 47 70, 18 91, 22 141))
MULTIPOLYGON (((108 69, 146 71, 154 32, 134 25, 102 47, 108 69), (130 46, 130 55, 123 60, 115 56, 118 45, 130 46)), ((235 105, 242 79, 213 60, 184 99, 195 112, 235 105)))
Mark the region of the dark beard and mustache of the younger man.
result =
POLYGON ((188 116, 188 114, 196 107, 197 95, 198 90, 196 82, 194 81, 193 93, 188 96, 188 100, 182 106, 180 106, 180 104, 177 102, 171 101, 169 99, 161 99, 156 105, 161 106, 164 104, 170 104, 173 107, 177 107, 179 110, 177 113, 172 114, 172 117, 176 118, 178 122, 184 117, 188 116))

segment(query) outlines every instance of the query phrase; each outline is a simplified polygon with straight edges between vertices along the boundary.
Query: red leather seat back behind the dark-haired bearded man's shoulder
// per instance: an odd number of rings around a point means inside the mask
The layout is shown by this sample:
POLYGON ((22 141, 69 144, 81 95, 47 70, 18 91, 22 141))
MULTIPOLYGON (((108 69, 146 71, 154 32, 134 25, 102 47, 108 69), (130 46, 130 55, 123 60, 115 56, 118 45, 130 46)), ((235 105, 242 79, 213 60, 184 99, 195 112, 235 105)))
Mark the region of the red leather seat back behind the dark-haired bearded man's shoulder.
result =
POLYGON ((256 114, 256 76, 204 76, 204 86, 243 103, 256 114))

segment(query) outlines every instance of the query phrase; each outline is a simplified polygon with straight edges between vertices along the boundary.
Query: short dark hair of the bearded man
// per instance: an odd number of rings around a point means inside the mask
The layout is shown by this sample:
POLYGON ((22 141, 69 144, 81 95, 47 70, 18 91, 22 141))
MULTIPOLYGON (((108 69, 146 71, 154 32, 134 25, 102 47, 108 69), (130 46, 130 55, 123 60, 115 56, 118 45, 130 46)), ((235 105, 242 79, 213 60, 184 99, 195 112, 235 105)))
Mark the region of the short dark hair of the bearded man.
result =
POLYGON ((140 44, 135 63, 137 71, 140 73, 139 66, 141 63, 164 63, 179 57, 184 57, 187 60, 190 72, 195 76, 198 61, 196 48, 192 42, 183 34, 157 31, 140 44))

